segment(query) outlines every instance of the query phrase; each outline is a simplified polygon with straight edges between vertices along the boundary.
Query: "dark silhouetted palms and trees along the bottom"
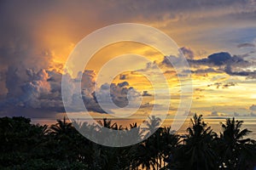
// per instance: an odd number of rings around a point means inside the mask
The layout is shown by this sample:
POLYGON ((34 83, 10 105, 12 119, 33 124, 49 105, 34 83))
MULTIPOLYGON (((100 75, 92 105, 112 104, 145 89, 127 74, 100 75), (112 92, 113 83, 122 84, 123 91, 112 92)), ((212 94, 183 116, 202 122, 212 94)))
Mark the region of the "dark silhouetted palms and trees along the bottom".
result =
MULTIPOLYGON (((158 122, 151 117, 147 126, 154 128, 158 122)), ((137 123, 120 127, 107 119, 100 124, 115 130, 137 127, 137 123)), ((25 117, 3 117, 0 169, 253 169, 256 143, 245 139, 250 131, 241 125, 227 119, 218 134, 195 115, 185 136, 160 127, 139 144, 111 148, 85 139, 65 118, 47 127, 31 124, 25 117)))

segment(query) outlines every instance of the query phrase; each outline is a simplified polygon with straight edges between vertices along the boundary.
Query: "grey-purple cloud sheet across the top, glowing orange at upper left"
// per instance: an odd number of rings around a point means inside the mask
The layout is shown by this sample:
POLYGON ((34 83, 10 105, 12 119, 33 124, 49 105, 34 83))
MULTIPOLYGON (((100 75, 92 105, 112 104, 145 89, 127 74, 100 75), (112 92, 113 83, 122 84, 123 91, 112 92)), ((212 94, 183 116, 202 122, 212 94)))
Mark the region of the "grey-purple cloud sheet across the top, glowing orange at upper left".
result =
POLYGON ((37 71, 47 68, 50 50, 55 45, 49 45, 44 37, 69 37, 72 33, 73 42, 78 42, 84 37, 84 30, 89 33, 102 26, 135 19, 146 22, 166 20, 166 17, 183 20, 193 11, 207 12, 208 9, 214 11, 214 8, 223 8, 228 14, 248 14, 255 11, 255 1, 1 1, 0 65, 1 68, 24 65, 37 71))

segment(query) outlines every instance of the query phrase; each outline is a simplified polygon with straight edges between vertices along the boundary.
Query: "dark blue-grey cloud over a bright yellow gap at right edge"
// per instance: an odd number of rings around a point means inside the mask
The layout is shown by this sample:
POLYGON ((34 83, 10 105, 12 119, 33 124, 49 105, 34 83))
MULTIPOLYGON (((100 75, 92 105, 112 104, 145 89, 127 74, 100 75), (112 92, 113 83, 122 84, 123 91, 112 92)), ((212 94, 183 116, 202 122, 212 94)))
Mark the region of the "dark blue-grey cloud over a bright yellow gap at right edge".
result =
MULTIPOLYGON (((220 52, 209 55, 204 59, 187 59, 191 67, 191 72, 198 75, 207 77, 207 73, 226 73, 230 76, 247 77, 247 79, 256 78, 256 71, 251 71, 249 68, 253 68, 256 63, 254 61, 248 61, 240 56, 231 56, 227 52, 220 52), (206 68, 208 67, 208 68, 206 68), (203 68, 203 69, 201 69, 203 68), (248 68, 248 69, 247 69, 248 68)), ((182 65, 184 60, 177 58, 176 56, 165 56, 161 61, 162 65, 172 67, 172 64, 182 65)), ((186 73, 187 70, 183 70, 186 73)), ((227 85, 228 86, 228 85, 227 85)))

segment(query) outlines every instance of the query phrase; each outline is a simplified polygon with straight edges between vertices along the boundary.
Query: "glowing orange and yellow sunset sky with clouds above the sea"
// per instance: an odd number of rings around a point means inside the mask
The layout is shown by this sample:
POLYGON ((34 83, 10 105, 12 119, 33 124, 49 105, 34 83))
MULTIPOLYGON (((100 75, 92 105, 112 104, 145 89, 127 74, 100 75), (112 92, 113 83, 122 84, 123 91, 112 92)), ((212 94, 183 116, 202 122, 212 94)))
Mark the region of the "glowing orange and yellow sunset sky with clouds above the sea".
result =
MULTIPOLYGON (((0 116, 62 116, 65 112, 61 97, 62 75, 73 82, 70 93, 81 94, 92 115, 122 117, 129 113, 130 110, 124 108, 129 103, 141 104, 134 116, 148 116, 153 106, 161 114, 163 105, 169 100, 168 115, 175 115, 182 85, 178 81, 180 75, 168 62, 172 54, 164 56, 137 42, 118 42, 99 50, 84 71, 67 75, 65 63, 76 45, 91 32, 119 23, 152 26, 177 43, 190 65, 194 89, 190 112, 215 117, 256 116, 255 18, 255 0, 45 0, 22 3, 2 0, 0 116), (105 76, 109 76, 108 68, 115 66, 135 66, 136 69, 116 75, 112 82, 104 82, 105 79, 96 82, 102 66, 122 54, 143 55, 148 63, 132 58, 117 60, 108 65, 105 76), (163 73, 157 73, 156 67, 163 73), (171 97, 163 93, 161 100, 154 101, 156 89, 143 72, 156 81, 164 75, 171 97), (77 90, 79 86, 82 92, 77 90), (123 110, 102 109, 96 94, 104 100, 109 94, 108 88, 113 103, 123 110)), ((185 75, 188 71, 181 72, 185 75)), ((162 82, 156 87, 166 90, 162 82)), ((75 99, 69 102, 74 115, 79 114, 81 109, 75 99)))

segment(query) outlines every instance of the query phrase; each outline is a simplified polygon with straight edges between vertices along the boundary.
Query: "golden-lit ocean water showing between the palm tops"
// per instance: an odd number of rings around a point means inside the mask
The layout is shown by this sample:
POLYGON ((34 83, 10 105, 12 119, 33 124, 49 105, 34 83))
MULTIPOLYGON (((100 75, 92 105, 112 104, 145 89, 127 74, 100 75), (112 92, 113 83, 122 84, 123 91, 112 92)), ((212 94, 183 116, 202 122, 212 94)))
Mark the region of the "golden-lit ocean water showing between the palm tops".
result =
MULTIPOLYGON (((182 127, 177 130, 179 134, 186 134, 186 129, 191 126, 190 122, 191 116, 189 116, 185 122, 183 122, 182 127)), ((225 122, 225 117, 209 117, 204 118, 203 121, 207 123, 208 126, 212 127, 212 130, 216 133, 222 132, 221 122, 225 122)), ((96 119, 96 121, 102 119, 96 119)), ((256 140, 256 117, 236 117, 236 120, 243 121, 241 128, 247 128, 248 130, 252 131, 247 135, 247 138, 255 139, 256 140)), ((143 119, 112 119, 112 122, 116 122, 118 125, 122 125, 123 127, 130 127, 130 124, 133 122, 137 122, 137 125, 141 125, 143 123, 143 119)), ((172 127, 173 119, 166 119, 162 122, 161 127, 172 127)), ((48 125, 55 124, 55 119, 42 119, 42 118, 33 118, 32 123, 40 125, 48 125)))

